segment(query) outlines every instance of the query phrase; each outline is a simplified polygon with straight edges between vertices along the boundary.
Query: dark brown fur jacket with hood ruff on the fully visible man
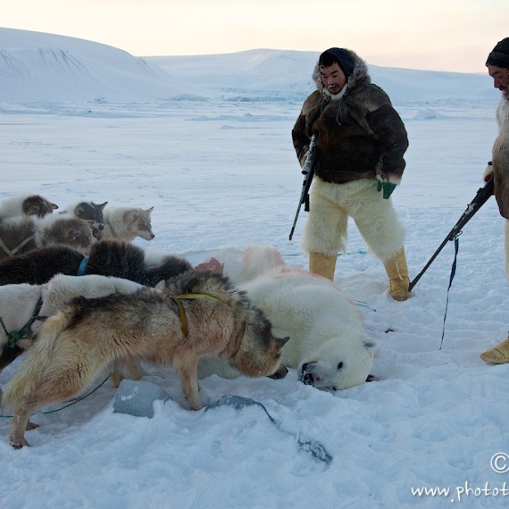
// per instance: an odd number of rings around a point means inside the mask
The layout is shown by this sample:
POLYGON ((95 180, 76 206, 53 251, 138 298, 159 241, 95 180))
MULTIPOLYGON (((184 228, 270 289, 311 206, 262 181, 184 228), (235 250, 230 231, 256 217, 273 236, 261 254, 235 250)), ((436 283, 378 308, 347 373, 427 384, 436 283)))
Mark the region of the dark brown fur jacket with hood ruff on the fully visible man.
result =
POLYGON ((292 129, 297 158, 304 163, 313 134, 317 135, 316 174, 326 182, 357 179, 401 182, 408 138, 403 121, 388 95, 371 83, 366 63, 348 50, 355 68, 337 96, 321 83, 316 63, 316 91, 305 99, 292 129))

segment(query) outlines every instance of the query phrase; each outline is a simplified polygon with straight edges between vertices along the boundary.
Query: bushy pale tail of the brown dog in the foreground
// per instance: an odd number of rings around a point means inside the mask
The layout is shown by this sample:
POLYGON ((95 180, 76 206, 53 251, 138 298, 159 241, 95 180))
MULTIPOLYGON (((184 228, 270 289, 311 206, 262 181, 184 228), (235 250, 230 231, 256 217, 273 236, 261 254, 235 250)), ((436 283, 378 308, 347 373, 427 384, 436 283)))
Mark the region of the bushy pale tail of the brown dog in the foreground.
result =
POLYGON ((46 320, 38 338, 25 352, 13 378, 4 388, 1 400, 3 408, 13 407, 35 393, 50 366, 56 340, 68 327, 70 320, 70 310, 60 311, 46 320))

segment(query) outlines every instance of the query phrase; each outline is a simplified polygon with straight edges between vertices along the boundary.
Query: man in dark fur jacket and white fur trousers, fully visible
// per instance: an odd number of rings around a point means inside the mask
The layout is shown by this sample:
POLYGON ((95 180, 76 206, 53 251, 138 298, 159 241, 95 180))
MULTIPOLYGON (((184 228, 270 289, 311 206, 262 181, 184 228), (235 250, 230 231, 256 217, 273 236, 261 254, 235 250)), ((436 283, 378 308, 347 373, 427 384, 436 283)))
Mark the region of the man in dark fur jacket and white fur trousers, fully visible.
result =
POLYGON ((309 271, 334 280, 352 218, 370 252, 384 264, 390 296, 406 300, 411 292, 405 228, 390 199, 405 170, 405 125, 352 50, 331 47, 321 53, 313 79, 316 91, 305 99, 292 129, 301 165, 313 136, 316 148, 302 239, 309 271))

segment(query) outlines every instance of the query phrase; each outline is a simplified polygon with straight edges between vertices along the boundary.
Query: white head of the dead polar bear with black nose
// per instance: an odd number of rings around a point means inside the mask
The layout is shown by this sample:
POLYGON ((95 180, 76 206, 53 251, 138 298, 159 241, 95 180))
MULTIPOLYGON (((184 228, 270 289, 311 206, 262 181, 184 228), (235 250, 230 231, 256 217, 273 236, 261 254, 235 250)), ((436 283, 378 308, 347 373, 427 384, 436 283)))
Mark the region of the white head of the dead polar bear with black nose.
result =
POLYGON ((366 381, 373 366, 376 343, 352 336, 330 338, 299 364, 299 380, 314 388, 338 390, 366 381))

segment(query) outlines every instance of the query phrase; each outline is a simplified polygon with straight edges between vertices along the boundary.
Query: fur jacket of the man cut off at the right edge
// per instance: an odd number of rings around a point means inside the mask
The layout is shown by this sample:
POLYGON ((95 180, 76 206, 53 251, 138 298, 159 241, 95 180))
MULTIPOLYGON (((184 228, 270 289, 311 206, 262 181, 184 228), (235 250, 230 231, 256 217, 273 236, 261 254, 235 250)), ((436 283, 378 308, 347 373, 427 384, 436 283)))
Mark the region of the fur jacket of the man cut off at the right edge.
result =
POLYGON ((502 97, 496 110, 498 138, 493 145, 495 197, 500 215, 509 219, 509 99, 502 97))

